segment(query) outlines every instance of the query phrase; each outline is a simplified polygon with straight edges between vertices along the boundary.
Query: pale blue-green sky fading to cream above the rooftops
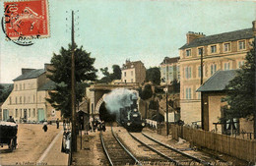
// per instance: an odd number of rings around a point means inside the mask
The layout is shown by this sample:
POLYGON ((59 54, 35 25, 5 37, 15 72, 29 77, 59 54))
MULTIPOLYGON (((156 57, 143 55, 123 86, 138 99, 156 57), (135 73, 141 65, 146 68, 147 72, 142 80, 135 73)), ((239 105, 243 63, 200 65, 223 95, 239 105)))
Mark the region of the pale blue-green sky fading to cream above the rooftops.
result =
POLYGON ((179 56, 188 31, 211 35, 252 28, 256 20, 253 0, 48 0, 48 9, 50 36, 33 39, 32 46, 7 41, 1 29, 0 83, 13 83, 22 68, 42 69, 68 47, 72 10, 75 42, 96 58, 96 69, 122 66, 126 59, 156 67, 164 57, 179 56))

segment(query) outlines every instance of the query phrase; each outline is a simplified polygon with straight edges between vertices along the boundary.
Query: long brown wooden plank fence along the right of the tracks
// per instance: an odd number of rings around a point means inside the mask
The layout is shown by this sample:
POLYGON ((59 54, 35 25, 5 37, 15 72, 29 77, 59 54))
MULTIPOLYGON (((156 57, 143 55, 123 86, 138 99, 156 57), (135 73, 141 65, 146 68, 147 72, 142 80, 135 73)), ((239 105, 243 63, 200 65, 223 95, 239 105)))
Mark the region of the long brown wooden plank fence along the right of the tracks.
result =
POLYGON ((256 140, 232 138, 185 126, 171 125, 172 138, 184 138, 190 143, 228 154, 248 162, 256 162, 256 140))

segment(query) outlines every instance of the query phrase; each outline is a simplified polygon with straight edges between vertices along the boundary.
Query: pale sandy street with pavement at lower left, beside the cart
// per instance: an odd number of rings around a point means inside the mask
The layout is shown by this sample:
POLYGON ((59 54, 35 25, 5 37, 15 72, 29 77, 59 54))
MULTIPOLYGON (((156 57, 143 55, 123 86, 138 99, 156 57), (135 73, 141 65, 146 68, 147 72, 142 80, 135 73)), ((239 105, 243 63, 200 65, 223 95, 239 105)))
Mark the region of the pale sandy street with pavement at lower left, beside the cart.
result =
POLYGON ((61 153, 62 128, 48 125, 43 132, 42 125, 18 124, 18 147, 10 152, 0 148, 1 165, 67 165, 68 155, 61 153))

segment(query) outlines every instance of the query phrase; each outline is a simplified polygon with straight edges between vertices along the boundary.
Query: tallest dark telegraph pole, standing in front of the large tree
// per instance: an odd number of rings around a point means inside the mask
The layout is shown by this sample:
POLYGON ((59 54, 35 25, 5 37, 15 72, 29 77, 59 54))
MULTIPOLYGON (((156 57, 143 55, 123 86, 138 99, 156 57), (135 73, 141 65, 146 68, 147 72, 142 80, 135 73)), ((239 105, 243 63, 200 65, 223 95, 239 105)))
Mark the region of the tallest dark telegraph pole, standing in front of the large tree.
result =
POLYGON ((71 102, 72 102, 72 150, 77 151, 77 134, 76 134, 76 92, 75 92, 75 37, 74 37, 74 11, 72 11, 71 25, 71 102))

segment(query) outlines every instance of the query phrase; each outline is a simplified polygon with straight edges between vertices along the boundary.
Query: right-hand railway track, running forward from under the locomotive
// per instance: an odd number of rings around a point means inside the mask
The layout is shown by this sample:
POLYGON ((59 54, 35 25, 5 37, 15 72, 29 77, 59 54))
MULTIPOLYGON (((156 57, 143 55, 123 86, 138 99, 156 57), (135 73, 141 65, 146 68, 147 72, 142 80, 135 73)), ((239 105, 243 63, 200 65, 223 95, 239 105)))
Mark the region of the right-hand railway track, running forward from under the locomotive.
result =
POLYGON ((173 165, 211 165, 210 162, 206 162, 198 157, 163 144, 155 138, 151 138, 143 133, 129 133, 129 135, 150 148, 152 151, 155 151, 173 165))

